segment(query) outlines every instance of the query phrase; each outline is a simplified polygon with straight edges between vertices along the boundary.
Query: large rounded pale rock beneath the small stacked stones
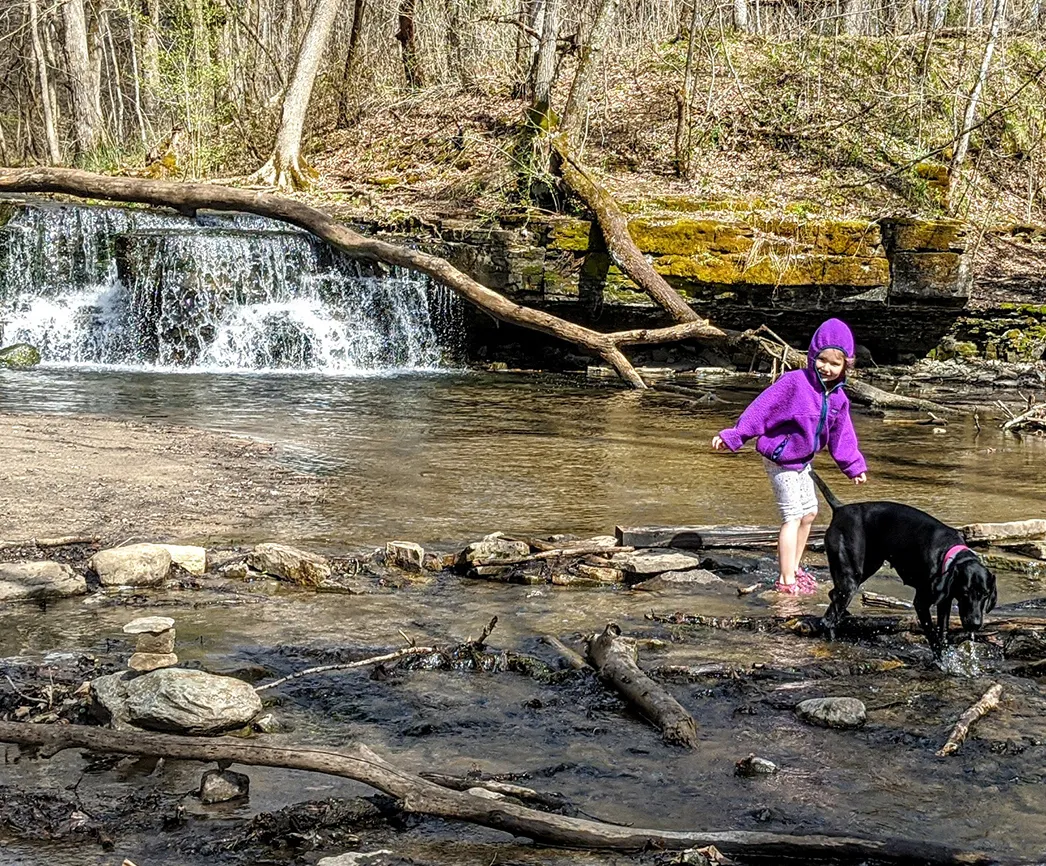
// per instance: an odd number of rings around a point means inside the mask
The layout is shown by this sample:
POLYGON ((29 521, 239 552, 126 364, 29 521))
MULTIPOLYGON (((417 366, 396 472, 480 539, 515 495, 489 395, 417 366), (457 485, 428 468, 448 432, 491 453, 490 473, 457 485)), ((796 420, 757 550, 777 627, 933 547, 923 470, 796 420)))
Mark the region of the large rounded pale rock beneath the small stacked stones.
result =
POLYGON ((262 711, 248 683, 202 670, 165 667, 127 684, 128 719, 140 728, 211 734, 241 728, 262 711))

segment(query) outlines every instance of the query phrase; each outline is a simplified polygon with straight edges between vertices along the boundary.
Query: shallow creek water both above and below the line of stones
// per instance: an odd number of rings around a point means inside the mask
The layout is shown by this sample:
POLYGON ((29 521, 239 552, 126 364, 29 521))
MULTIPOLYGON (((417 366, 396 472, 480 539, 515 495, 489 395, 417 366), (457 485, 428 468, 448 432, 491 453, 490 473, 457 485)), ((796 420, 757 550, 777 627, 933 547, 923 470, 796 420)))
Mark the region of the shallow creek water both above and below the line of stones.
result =
MULTIPOLYGON (((723 393, 731 402, 709 409, 663 393, 591 388, 567 379, 55 369, 4 373, 0 385, 2 409, 144 416, 278 442, 289 463, 322 473, 332 484, 320 510, 298 517, 299 537, 283 541, 348 547, 399 537, 451 549, 496 529, 605 533, 615 524, 774 519, 758 459, 708 448, 748 394, 723 393)), ((842 476, 829 475, 841 498, 903 499, 953 523, 1044 511, 1041 439, 1004 437, 987 426, 977 435, 961 423, 934 434, 930 428, 885 427, 863 415, 857 427, 871 482, 851 491, 842 476)), ((265 526, 256 529, 266 538, 265 526)), ((771 569, 768 560, 757 576, 769 578, 771 569)), ((670 684, 699 724, 701 745, 692 752, 664 745, 584 675, 556 685, 517 674, 460 671, 413 671, 385 682, 347 671, 296 681, 276 690, 274 708, 293 730, 271 740, 364 742, 414 771, 528 771, 535 777, 526 783, 563 793, 591 815, 637 826, 896 836, 1023 858, 1046 850, 1039 745, 1046 743, 1046 702, 1036 681, 1000 678, 987 647, 980 647, 978 676, 945 676, 929 664, 917 636, 903 644, 906 667, 897 676, 828 677, 808 666, 893 653, 876 642, 859 646, 668 626, 646 618, 651 611, 816 613, 826 602, 823 590, 798 600, 759 593, 738 598, 735 587, 751 579, 744 575, 718 588, 661 593, 506 586, 454 576, 400 590, 373 583, 367 594, 353 596, 273 594, 271 587, 254 585, 241 589, 266 601, 231 608, 201 606, 210 597, 206 591, 155 597, 133 609, 98 598, 71 599, 46 613, 29 606, 0 611, 0 657, 79 648, 119 661, 130 653, 122 623, 162 613, 177 620, 184 663, 240 674, 260 667, 268 678, 323 663, 338 652, 363 657, 403 645, 401 631, 423 645, 475 638, 497 615, 493 648, 554 664, 541 635, 569 642, 613 620, 626 634, 662 641, 641 647, 647 668, 720 662, 749 674, 755 663, 799 670, 783 679, 670 684), (979 723, 958 755, 934 757, 992 677, 1005 683, 1003 709, 979 723), (833 694, 865 702, 865 728, 835 731, 797 721, 793 707, 800 700, 833 694), (735 776, 734 762, 752 752, 773 760, 780 772, 735 776), (558 765, 564 768, 551 776, 539 774, 558 765)), ((868 588, 910 598, 888 575, 873 578, 868 588)), ((1009 576, 1003 578, 1000 601, 1043 594, 1009 576)), ((862 612, 859 603, 854 607, 862 612)), ((83 758, 67 752, 47 762, 3 765, 0 783, 63 790, 83 769, 83 758)), ((202 769, 184 762, 152 773, 117 768, 87 777, 78 791, 87 806, 129 785, 189 791, 202 769)), ((119 863, 122 857, 139 864, 204 862, 187 858, 179 839, 217 833, 230 817, 288 802, 366 793, 317 775, 246 772, 252 778, 250 802, 207 810, 189 798, 186 807, 201 816, 189 830, 129 838, 118 857, 18 842, 0 848, 0 863, 28 863, 45 852, 61 864, 119 863)), ((426 834, 437 840, 507 841, 453 826, 417 833, 384 847, 432 862, 410 848, 426 834)))

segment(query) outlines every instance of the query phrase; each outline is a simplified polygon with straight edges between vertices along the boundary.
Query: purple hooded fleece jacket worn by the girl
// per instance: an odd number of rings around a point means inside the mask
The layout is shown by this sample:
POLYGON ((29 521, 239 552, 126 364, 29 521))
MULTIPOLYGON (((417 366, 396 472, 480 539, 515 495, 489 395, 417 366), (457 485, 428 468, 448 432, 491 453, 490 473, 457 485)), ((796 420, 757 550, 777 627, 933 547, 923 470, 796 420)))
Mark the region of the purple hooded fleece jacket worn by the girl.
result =
POLYGON ((734 427, 720 431, 730 451, 758 436, 759 454, 781 469, 800 470, 827 446, 847 478, 867 470, 843 393, 845 375, 828 388, 814 365, 826 348, 854 357, 854 335, 839 319, 828 319, 817 328, 806 351, 806 369, 784 373, 749 404, 734 427))

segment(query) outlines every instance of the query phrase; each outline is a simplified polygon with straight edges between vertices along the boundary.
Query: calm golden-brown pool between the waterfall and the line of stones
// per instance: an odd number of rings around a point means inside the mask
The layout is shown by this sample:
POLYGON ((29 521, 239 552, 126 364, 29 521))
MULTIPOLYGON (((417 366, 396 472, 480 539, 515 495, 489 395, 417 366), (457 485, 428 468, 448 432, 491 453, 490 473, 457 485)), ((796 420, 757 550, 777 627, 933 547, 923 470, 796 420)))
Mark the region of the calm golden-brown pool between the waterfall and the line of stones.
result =
MULTIPOLYGON (((337 378, 61 368, 0 373, 0 409, 173 421, 274 441, 324 477, 299 539, 459 541, 495 530, 602 533, 617 524, 772 523, 760 461, 709 440, 749 393, 707 407, 566 378, 337 378)), ((945 434, 858 414, 869 483, 843 500, 896 499, 942 520, 1042 515, 1046 441, 957 419, 945 434)), ((831 466, 826 455, 819 465, 831 466)), ((264 527, 259 527, 264 529, 264 527)))

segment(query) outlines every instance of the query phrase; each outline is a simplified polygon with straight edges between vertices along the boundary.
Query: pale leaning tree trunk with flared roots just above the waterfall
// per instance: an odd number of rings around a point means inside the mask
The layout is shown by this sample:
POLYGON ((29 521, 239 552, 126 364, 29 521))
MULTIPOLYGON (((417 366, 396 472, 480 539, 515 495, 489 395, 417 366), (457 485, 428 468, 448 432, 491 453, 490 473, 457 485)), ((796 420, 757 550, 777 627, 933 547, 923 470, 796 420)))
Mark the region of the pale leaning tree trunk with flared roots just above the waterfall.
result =
POLYGON ((269 160, 252 176, 254 182, 281 189, 305 189, 316 179, 316 170, 301 156, 301 135, 316 73, 340 5, 341 0, 317 0, 283 96, 276 143, 269 160))

